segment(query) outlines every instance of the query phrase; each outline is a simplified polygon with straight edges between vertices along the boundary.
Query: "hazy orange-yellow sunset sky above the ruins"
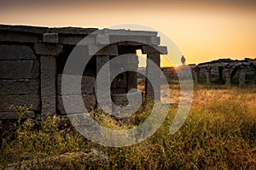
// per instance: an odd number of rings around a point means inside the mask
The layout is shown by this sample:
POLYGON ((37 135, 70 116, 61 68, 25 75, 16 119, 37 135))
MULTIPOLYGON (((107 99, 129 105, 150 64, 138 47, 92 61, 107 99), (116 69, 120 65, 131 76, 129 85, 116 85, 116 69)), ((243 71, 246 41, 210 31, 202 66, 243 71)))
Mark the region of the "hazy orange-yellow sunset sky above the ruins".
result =
MULTIPOLYGON (((0 23, 97 28, 132 23, 165 34, 188 63, 256 58, 255 0, 0 0, 0 23)), ((180 64, 180 56, 170 57, 173 65, 180 64)))

